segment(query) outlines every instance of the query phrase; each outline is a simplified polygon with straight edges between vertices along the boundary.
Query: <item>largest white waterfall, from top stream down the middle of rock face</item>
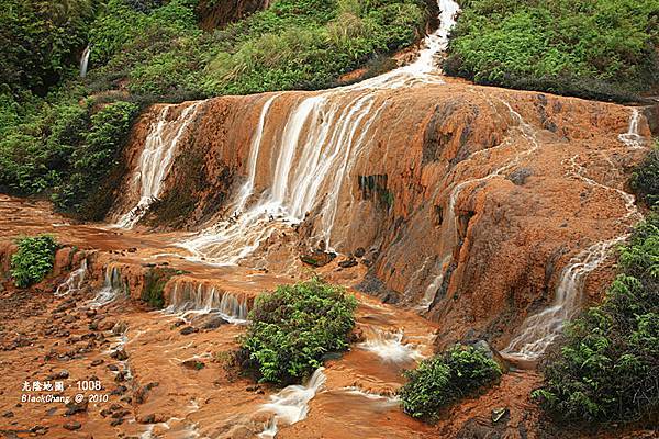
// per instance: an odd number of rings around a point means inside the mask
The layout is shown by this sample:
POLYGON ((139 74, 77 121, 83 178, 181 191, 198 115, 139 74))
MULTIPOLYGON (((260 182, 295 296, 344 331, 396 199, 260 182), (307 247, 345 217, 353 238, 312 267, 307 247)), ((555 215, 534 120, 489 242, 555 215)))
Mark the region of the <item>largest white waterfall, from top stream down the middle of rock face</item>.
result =
MULTIPOLYGON (((196 258, 221 264, 235 264, 281 227, 297 224, 313 210, 319 212, 315 238, 330 249, 338 196, 347 184, 357 158, 370 140, 370 130, 387 105, 378 99, 379 89, 413 87, 428 81, 442 82, 435 57, 446 49, 448 33, 459 10, 455 1, 439 0, 439 29, 428 35, 416 61, 354 86, 313 93, 301 99, 289 112, 276 142, 277 159, 268 190, 255 193, 255 172, 261 157, 263 133, 277 95, 265 100, 252 137, 247 181, 233 203, 231 221, 222 221, 198 236, 180 243, 196 258), (248 200, 257 201, 248 205, 248 200)), ((270 139, 272 142, 272 139, 270 139)))

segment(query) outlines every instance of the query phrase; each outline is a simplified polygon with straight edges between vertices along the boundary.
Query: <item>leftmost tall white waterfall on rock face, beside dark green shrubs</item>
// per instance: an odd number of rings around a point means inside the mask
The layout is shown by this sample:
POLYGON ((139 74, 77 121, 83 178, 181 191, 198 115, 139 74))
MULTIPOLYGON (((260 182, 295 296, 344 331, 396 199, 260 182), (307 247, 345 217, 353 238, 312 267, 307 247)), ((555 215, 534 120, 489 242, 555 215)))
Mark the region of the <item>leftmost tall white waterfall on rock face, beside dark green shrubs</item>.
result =
POLYGON ((137 169, 133 176, 133 187, 139 191, 139 201, 119 218, 118 227, 134 227, 158 199, 163 190, 163 182, 171 168, 178 144, 194 120, 200 104, 201 101, 185 108, 174 121, 167 120, 171 105, 160 109, 156 121, 150 125, 137 169))

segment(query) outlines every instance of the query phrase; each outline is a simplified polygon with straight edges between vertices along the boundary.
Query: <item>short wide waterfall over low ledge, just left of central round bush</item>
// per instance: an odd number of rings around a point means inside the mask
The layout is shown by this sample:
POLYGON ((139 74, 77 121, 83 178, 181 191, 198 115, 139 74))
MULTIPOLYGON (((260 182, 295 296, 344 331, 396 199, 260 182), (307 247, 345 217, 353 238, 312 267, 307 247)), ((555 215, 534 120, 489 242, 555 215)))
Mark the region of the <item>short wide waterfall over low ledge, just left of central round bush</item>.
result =
POLYGON ((199 314, 217 314, 231 323, 246 323, 249 307, 246 297, 203 283, 177 282, 171 292, 168 313, 187 318, 199 314))

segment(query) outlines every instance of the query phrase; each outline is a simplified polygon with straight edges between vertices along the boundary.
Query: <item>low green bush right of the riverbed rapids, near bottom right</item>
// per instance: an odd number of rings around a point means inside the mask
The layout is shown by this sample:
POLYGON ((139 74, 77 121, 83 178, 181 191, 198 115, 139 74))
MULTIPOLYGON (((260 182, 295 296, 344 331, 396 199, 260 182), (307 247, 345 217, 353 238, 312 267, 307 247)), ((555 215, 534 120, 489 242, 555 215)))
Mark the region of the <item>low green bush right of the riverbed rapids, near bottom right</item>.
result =
POLYGON ((400 390, 403 409, 412 417, 433 421, 442 408, 499 379, 501 368, 482 350, 456 345, 423 360, 405 376, 409 382, 400 390))

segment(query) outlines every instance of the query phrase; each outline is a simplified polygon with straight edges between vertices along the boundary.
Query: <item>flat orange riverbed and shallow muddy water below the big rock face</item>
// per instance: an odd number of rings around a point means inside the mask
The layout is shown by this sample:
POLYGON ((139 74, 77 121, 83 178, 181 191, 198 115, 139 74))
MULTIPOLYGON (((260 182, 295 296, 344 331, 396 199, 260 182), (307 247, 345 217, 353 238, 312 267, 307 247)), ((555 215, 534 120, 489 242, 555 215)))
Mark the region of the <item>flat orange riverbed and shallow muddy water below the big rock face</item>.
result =
MULTIPOLYGON (((273 277, 243 268, 193 263, 172 255, 176 249, 168 243, 176 235, 146 237, 100 225, 69 225, 46 203, 7 196, 0 198, 0 230, 7 238, 49 232, 67 245, 58 252, 58 275, 24 291, 3 282, 0 292, 0 434, 4 437, 249 438, 272 421, 273 414, 263 406, 279 390, 256 384, 226 365, 226 353, 236 347, 236 336, 244 331, 244 325, 223 324, 183 335, 183 328, 201 322, 196 320, 199 316, 183 320, 180 314, 149 311, 129 299, 92 308, 89 303, 98 290, 93 282, 60 297, 54 295, 54 290, 70 271, 67 263, 76 260, 70 256, 71 247, 87 249, 88 255, 93 249, 97 261, 112 257, 126 267, 165 262, 200 279, 212 278, 217 284, 254 292, 306 278, 310 272, 304 268, 300 267, 297 274, 273 277), (164 252, 170 255, 153 256, 164 252), (118 350, 126 358, 113 354, 118 350), (78 382, 90 380, 100 381, 102 389, 78 389, 78 382), (65 389, 23 390, 24 383, 32 385, 35 381, 59 381, 65 389), (75 405, 64 402, 21 402, 23 395, 46 394, 74 401, 79 393, 88 402, 77 413, 75 405)), ((98 263, 92 262, 90 271, 100 270, 93 268, 98 263)), ((362 266, 340 269, 335 263, 321 270, 328 280, 347 286, 360 280, 364 272, 362 266)), ((356 329, 359 339, 348 352, 327 361, 322 372, 325 382, 309 401, 306 417, 290 426, 278 423, 277 437, 437 437, 442 423, 439 427, 427 426, 410 418, 395 398, 403 383, 402 370, 432 354, 437 325, 355 294, 360 303, 356 329)), ((518 391, 527 391, 535 382, 535 373, 520 372, 506 375, 500 385, 516 383, 518 391)), ((520 403, 518 395, 511 395, 514 397, 510 401, 506 393, 499 395, 503 401, 498 404, 512 409, 511 419, 518 423, 518 410, 526 413, 528 407, 520 403)), ((490 409, 487 403, 477 404, 470 408, 469 418, 488 419, 490 409)))

